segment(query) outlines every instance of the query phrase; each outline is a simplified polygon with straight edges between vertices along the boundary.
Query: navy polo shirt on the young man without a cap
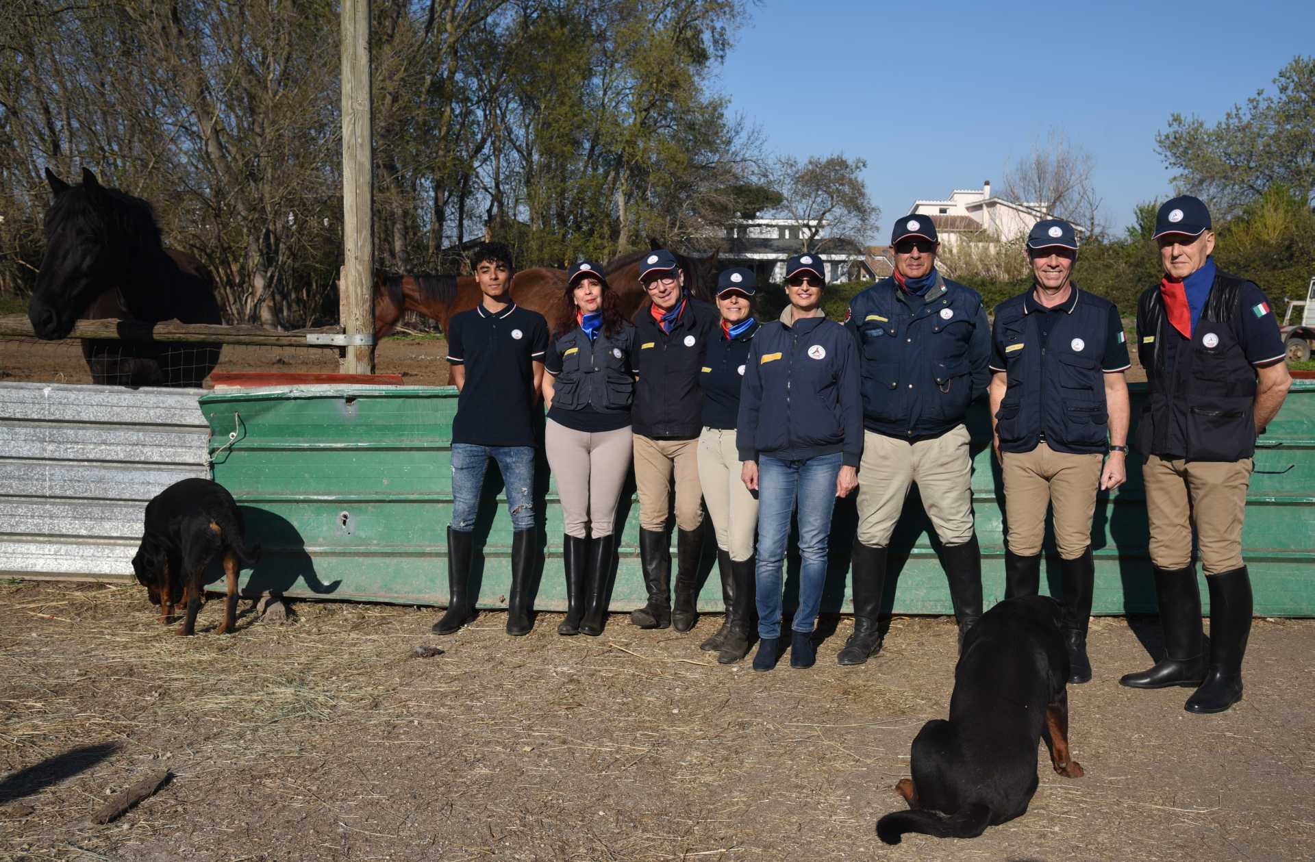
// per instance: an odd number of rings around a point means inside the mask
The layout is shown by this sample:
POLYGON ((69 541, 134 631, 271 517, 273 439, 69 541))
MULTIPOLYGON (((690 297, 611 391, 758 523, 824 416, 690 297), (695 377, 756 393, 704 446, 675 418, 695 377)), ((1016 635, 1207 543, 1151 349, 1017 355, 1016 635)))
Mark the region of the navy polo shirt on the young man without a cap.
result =
POLYGON ((548 323, 512 304, 493 314, 484 305, 447 322, 447 361, 466 367, 452 443, 534 445, 534 363, 548 348, 548 323))

